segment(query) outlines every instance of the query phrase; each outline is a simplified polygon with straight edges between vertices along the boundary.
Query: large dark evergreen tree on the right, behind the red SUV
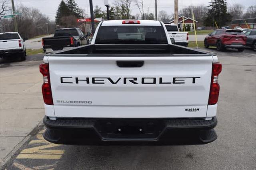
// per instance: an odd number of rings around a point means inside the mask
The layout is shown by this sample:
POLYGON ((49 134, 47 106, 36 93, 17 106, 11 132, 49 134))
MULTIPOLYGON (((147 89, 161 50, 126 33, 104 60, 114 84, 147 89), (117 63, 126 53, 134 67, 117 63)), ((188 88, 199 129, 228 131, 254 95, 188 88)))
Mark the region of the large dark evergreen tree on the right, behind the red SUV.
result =
POLYGON ((226 0, 211 0, 208 7, 209 9, 204 19, 204 25, 214 26, 214 22, 216 22, 218 27, 222 27, 226 25, 227 22, 231 21, 232 17, 227 13, 226 0))

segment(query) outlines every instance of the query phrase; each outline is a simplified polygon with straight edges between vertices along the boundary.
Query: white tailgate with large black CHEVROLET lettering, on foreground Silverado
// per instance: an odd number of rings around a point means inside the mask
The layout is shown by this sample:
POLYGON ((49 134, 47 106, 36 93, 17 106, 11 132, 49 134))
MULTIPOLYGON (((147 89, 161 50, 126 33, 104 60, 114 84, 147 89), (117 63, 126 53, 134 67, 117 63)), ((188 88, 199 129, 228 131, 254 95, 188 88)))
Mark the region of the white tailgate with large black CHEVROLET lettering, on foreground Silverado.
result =
POLYGON ((211 56, 49 56, 55 116, 206 117, 212 61, 211 56), (144 64, 120 67, 117 61, 144 64))

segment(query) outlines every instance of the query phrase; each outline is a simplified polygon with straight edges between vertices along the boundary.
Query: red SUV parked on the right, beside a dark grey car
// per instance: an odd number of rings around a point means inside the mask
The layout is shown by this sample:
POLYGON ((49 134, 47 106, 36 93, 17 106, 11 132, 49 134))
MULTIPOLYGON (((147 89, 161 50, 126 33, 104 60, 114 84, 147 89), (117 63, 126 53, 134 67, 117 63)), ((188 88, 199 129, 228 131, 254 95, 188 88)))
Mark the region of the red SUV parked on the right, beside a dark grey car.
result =
POLYGON ((227 48, 244 51, 246 46, 246 35, 243 31, 237 29, 216 29, 209 33, 204 39, 204 47, 210 45, 216 46, 218 51, 224 51, 227 48))

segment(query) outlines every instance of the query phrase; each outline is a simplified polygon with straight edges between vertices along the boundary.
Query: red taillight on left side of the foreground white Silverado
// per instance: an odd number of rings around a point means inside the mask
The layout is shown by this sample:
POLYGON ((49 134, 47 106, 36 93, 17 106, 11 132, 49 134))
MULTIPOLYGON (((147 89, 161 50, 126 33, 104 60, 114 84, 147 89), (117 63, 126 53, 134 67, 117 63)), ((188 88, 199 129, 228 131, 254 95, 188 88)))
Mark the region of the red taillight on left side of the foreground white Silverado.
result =
POLYGON ((50 84, 50 72, 49 64, 43 63, 39 66, 41 74, 43 74, 44 84, 42 85, 42 94, 44 98, 44 103, 48 105, 53 105, 52 100, 52 90, 50 84))

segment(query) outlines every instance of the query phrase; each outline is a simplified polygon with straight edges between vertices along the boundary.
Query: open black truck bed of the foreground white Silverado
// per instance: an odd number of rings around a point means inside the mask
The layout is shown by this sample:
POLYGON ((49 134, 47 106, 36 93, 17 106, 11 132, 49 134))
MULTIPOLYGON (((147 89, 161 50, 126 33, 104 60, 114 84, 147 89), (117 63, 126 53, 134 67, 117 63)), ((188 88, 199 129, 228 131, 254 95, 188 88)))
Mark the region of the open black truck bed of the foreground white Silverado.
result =
POLYGON ((50 56, 88 57, 173 57, 173 56, 212 56, 196 49, 168 44, 93 44, 52 53, 50 56), (111 55, 108 55, 111 54, 111 55), (120 56, 120 54, 122 54, 120 56), (134 54, 134 55, 131 55, 134 54), (146 54, 146 55, 145 55, 146 54))

